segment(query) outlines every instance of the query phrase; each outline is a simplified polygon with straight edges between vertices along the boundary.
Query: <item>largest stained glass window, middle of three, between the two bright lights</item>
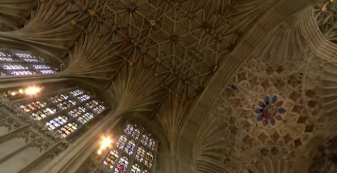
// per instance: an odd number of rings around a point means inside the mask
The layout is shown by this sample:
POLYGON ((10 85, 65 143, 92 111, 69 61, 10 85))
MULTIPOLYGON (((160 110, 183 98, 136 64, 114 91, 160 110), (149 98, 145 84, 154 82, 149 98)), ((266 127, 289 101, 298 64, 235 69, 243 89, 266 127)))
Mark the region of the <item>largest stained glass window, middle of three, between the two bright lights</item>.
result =
POLYGON ((78 86, 41 92, 38 97, 25 97, 23 92, 18 89, 8 95, 20 98, 16 95, 21 94, 21 99, 15 102, 22 111, 61 138, 70 136, 107 109, 93 93, 78 86))

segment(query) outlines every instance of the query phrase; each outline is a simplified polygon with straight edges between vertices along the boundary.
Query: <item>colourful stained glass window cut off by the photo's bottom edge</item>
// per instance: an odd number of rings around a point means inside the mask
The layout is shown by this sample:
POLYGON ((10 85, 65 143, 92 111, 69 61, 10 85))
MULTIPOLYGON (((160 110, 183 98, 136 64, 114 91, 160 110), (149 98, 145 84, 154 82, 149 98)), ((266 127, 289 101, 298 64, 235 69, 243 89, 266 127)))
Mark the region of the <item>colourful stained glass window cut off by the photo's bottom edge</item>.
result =
POLYGON ((135 124, 127 124, 112 147, 102 155, 110 172, 154 172, 157 142, 152 134, 135 124))

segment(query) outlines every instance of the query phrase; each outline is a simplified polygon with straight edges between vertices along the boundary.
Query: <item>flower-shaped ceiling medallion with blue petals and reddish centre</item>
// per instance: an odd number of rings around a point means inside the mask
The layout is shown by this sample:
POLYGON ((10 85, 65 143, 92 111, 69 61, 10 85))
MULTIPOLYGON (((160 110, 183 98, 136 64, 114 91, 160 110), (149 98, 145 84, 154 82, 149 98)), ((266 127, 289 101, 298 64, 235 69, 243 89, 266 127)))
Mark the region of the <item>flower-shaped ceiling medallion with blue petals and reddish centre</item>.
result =
POLYGON ((281 107, 282 105, 283 101, 278 100, 277 96, 273 96, 272 99, 269 99, 268 96, 264 97, 263 102, 258 102, 259 108, 255 109, 255 113, 258 114, 257 121, 262 121, 264 126, 268 122, 271 125, 275 125, 275 119, 282 120, 281 114, 285 113, 285 109, 281 107))

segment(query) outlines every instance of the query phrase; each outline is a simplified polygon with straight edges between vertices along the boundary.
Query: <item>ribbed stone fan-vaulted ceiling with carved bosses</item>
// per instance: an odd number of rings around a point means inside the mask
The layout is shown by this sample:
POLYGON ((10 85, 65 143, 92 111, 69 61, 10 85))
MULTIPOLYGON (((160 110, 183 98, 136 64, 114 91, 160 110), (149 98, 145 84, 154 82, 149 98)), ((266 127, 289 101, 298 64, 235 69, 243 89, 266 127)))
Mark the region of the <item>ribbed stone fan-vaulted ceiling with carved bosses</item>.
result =
POLYGON ((325 157, 313 164, 327 167, 335 157, 317 148, 337 135, 336 7, 7 0, 0 40, 62 63, 60 76, 98 81, 118 112, 149 112, 170 146, 172 172, 258 172, 259 161, 275 158, 295 171, 299 158, 325 157))

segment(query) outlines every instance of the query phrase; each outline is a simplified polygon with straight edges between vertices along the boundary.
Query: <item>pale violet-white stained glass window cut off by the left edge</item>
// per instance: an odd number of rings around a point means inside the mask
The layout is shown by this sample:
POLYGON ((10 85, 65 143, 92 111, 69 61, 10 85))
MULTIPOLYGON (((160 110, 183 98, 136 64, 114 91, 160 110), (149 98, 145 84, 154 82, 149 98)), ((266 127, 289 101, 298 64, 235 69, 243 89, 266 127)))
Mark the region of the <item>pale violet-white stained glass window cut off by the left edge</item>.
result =
POLYGON ((31 52, 0 49, 0 76, 51 74, 57 72, 50 62, 31 52))

